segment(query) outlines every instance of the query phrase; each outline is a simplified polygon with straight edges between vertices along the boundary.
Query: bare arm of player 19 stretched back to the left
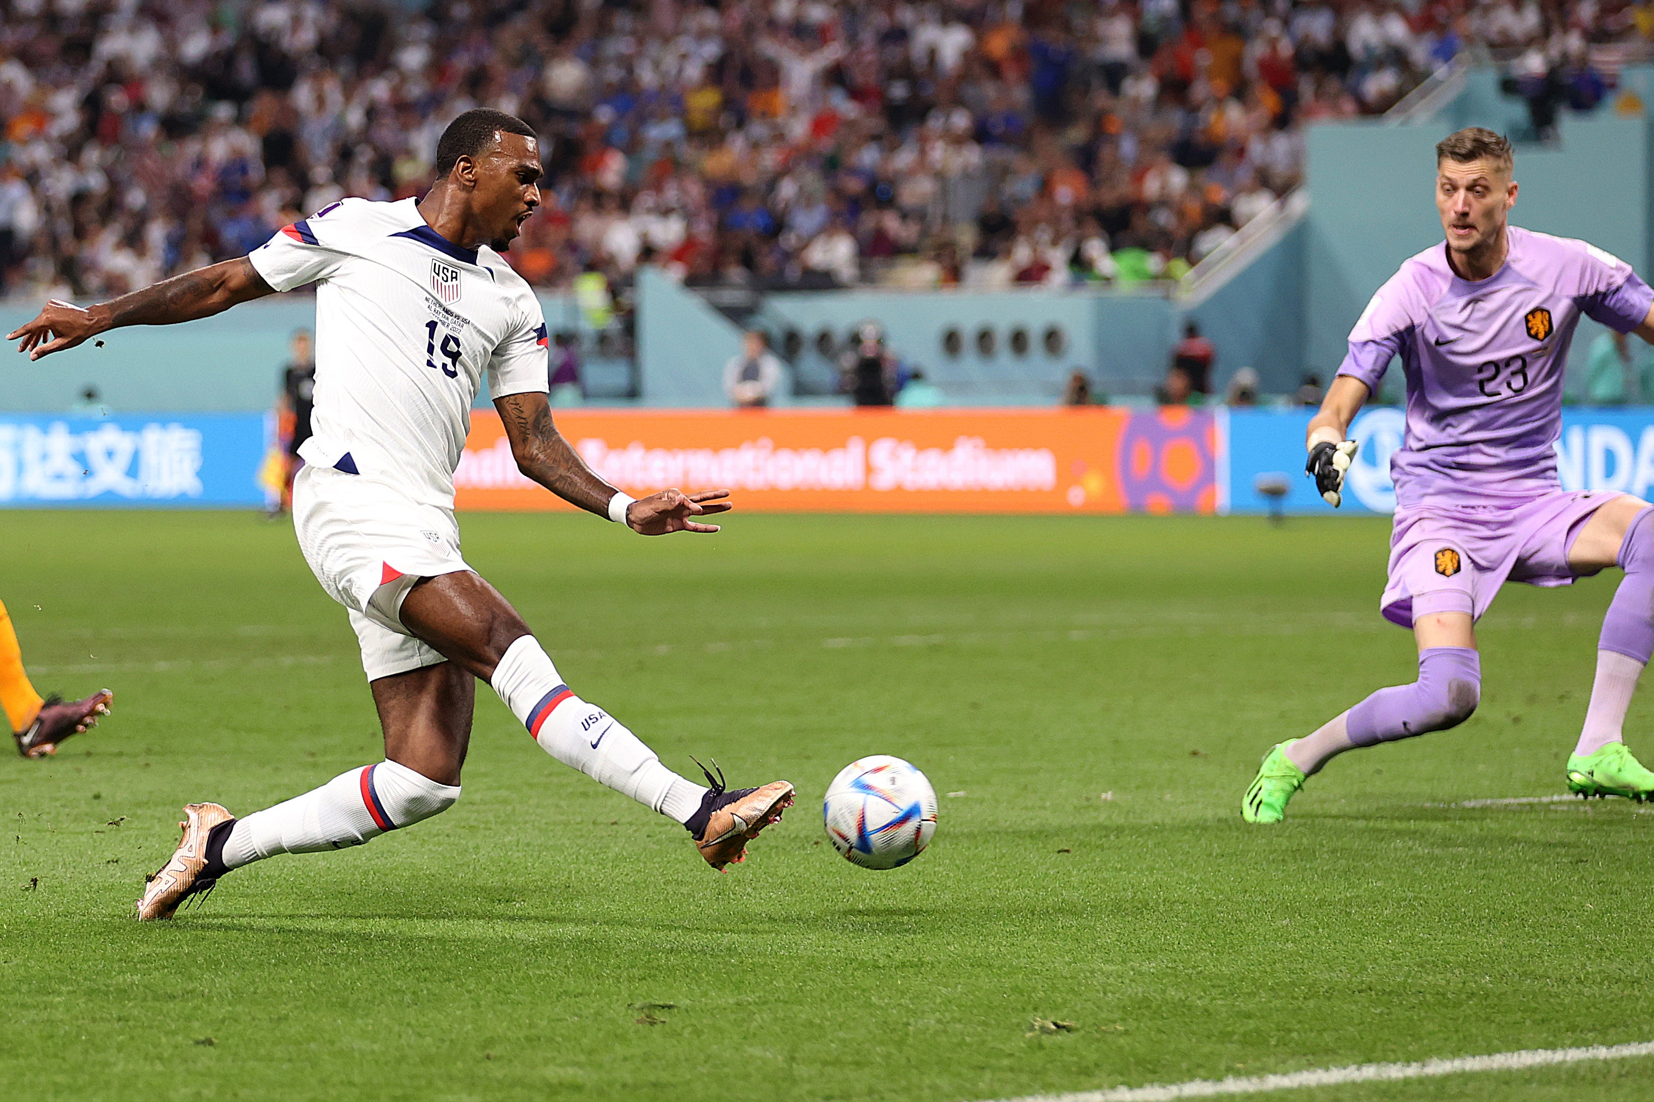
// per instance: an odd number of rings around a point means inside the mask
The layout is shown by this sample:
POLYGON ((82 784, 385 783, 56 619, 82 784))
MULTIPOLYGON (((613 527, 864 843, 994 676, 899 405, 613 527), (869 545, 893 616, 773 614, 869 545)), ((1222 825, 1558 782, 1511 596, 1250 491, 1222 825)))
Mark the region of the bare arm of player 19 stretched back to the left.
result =
POLYGON ((190 322, 266 294, 275 294, 275 287, 241 256, 162 279, 98 306, 81 307, 53 299, 35 321, 7 334, 7 340, 18 340, 17 350, 38 360, 111 329, 190 322))

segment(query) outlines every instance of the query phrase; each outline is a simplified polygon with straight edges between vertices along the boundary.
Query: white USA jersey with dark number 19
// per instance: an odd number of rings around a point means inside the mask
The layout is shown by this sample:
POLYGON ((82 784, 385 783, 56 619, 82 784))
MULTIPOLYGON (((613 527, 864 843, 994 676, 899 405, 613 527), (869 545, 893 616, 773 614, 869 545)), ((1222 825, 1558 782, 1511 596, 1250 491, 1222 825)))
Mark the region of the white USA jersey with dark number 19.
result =
POLYGON ((313 466, 453 507, 483 372, 491 398, 547 390, 539 301, 491 248, 425 225, 412 198, 347 198, 248 254, 276 291, 316 286, 313 466))

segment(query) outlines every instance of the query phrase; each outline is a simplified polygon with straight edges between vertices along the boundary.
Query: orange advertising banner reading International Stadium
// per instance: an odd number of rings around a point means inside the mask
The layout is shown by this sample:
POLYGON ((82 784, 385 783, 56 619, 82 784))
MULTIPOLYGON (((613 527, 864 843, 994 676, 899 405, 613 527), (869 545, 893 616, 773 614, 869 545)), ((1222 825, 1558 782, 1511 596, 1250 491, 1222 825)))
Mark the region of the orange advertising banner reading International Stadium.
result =
MULTIPOLYGON (((1188 408, 561 410, 587 464, 633 497, 728 487, 787 512, 1212 512, 1217 430, 1188 408)), ((569 509, 471 415, 458 509, 569 509)))

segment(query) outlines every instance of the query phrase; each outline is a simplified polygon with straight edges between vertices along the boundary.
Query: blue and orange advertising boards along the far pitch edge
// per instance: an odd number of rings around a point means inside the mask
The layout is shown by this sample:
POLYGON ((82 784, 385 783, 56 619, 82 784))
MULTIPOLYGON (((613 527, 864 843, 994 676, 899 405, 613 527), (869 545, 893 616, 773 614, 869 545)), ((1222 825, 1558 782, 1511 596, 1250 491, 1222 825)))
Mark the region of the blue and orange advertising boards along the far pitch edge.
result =
MULTIPOLYGON (((562 410, 632 494, 728 487, 746 511, 1331 512, 1303 476, 1308 410, 562 410), (1270 489, 1275 496, 1269 496, 1270 489)), ((1401 410, 1374 406, 1343 514, 1394 511, 1401 410)), ((1563 413, 1566 489, 1654 492, 1654 408, 1563 413)), ((0 415, 0 506, 255 507, 278 484, 266 415, 0 415)), ((491 410, 471 415, 460 509, 567 509, 523 477, 491 410)))

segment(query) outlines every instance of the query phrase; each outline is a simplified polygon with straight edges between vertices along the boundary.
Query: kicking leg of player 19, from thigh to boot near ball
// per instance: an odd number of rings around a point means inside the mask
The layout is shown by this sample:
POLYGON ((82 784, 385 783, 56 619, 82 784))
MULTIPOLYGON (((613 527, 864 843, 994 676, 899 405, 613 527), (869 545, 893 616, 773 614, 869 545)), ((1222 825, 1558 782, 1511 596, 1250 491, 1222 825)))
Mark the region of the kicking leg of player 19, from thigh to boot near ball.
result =
POLYGON ((574 696, 516 610, 475 573, 422 580, 400 616, 420 639, 488 681, 543 750, 683 823, 715 869, 743 861, 748 839, 792 805, 787 781, 726 790, 708 773, 703 788, 668 770, 620 722, 574 696))

